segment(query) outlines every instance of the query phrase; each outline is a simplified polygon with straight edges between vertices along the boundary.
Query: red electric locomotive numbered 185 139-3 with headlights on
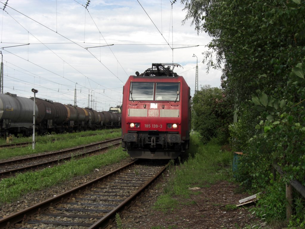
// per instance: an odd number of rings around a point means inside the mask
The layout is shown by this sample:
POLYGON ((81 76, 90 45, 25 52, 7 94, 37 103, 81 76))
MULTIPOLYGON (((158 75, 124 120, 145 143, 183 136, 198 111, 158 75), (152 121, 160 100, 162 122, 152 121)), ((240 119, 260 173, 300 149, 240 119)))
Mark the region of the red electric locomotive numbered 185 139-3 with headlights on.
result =
MULTIPOLYGON (((123 88, 122 147, 133 158, 177 158, 189 147, 190 88, 179 64, 152 64, 123 88)), ((181 66, 180 66, 181 67, 181 66)))

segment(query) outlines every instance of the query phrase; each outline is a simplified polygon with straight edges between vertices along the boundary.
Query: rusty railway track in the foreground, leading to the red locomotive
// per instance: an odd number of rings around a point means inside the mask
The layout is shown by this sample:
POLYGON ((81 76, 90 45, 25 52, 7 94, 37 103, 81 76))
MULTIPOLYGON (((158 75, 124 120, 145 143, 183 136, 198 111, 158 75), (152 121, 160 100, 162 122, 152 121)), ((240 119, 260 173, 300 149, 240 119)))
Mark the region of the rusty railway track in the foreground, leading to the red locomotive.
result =
POLYGON ((65 193, 0 219, 2 228, 105 228, 166 169, 134 161, 65 193), (15 225, 13 225, 15 224, 15 225))

